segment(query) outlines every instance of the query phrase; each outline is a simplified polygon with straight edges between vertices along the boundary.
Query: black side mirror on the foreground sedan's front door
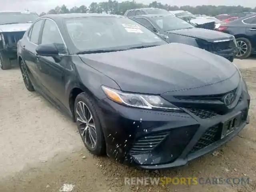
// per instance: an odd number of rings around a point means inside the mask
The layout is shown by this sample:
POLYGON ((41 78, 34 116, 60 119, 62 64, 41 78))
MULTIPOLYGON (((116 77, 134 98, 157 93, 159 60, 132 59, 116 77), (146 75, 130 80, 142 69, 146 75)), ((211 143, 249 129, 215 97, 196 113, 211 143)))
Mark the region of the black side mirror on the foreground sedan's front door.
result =
POLYGON ((36 48, 36 53, 40 56, 54 57, 59 55, 57 47, 53 44, 40 44, 36 48))

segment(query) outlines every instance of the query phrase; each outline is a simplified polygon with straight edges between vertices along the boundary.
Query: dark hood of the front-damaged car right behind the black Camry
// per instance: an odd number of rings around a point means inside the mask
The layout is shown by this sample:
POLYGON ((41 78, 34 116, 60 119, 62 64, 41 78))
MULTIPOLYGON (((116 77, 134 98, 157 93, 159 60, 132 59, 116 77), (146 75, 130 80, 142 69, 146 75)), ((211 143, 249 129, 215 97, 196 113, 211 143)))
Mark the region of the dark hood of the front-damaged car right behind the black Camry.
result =
POLYGON ((203 39, 208 42, 233 39, 233 36, 230 34, 218 32, 214 30, 202 29, 202 28, 180 29, 180 30, 168 31, 166 33, 183 35, 183 36, 193 37, 197 39, 203 39))

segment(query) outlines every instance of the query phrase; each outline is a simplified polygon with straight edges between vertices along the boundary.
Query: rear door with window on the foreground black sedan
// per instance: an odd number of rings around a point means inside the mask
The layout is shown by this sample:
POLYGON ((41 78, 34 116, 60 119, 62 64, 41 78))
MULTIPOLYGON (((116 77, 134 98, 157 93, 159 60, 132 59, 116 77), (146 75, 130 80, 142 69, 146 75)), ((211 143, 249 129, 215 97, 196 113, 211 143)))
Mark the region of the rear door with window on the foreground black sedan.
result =
POLYGON ((21 41, 20 44, 22 47, 22 58, 28 66, 33 83, 36 83, 35 86, 38 88, 41 88, 41 82, 39 80, 38 71, 36 69, 36 63, 38 60, 36 56, 36 47, 38 46, 38 40, 42 30, 43 22, 44 19, 36 21, 28 33, 25 34, 25 40, 21 41))

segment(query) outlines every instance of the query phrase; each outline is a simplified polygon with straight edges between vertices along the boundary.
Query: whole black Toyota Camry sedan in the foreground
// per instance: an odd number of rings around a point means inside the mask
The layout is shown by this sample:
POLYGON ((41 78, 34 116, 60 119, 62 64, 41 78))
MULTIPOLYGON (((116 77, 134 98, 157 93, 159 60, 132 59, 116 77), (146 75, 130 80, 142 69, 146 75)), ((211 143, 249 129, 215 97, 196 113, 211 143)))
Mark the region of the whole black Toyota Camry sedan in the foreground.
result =
POLYGON ((26 88, 70 116, 92 154, 141 168, 182 166, 249 122, 234 63, 124 16, 43 16, 18 42, 18 63, 26 88))

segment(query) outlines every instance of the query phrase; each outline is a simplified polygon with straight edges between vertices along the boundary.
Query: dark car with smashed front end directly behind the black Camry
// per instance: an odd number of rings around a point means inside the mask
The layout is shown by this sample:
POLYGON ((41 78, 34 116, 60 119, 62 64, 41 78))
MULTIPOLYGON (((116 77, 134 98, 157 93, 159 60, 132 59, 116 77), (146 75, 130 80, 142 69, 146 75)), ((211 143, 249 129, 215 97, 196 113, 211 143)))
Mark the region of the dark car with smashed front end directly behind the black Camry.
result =
POLYGON ((199 47, 233 62, 236 54, 234 36, 214 30, 196 28, 181 18, 166 14, 132 16, 130 19, 146 26, 168 42, 199 47))

